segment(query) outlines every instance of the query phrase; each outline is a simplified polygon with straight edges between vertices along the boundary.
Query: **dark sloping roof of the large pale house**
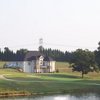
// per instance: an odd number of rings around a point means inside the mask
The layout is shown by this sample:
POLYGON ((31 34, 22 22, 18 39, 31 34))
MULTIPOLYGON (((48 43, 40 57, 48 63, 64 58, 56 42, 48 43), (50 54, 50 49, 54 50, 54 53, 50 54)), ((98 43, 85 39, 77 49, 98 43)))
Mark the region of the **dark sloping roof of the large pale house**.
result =
POLYGON ((25 61, 37 60, 40 56, 44 57, 44 61, 54 61, 51 57, 45 56, 39 51, 29 51, 25 56, 25 61))

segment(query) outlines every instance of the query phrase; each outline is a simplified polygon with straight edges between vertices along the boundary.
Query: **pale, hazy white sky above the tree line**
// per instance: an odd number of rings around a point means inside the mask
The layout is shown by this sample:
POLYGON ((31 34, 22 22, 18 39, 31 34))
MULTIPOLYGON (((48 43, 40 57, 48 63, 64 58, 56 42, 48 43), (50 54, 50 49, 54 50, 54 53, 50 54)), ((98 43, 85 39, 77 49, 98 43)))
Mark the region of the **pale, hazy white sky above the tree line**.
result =
POLYGON ((0 48, 96 50, 100 0, 0 0, 0 48))

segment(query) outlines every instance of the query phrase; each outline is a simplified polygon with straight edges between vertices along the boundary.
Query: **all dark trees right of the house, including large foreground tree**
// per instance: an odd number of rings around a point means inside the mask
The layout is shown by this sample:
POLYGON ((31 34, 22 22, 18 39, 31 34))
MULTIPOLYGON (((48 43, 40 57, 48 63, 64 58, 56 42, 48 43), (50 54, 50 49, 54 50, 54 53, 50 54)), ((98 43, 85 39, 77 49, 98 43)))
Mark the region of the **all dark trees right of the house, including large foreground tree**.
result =
POLYGON ((56 61, 69 62, 72 71, 81 72, 83 78, 88 72, 100 71, 100 42, 98 45, 97 50, 93 52, 88 49, 77 49, 74 52, 66 51, 65 53, 59 50, 43 49, 42 52, 56 61))

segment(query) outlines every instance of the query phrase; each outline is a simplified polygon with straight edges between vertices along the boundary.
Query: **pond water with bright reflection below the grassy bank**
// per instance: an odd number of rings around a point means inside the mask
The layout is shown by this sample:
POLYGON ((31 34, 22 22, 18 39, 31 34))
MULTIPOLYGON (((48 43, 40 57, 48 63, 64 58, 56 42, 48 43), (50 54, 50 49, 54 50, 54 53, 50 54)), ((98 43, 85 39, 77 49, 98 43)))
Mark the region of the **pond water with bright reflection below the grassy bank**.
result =
POLYGON ((100 95, 95 93, 81 95, 52 95, 52 96, 31 96, 17 98, 1 98, 0 100, 100 100, 100 95))

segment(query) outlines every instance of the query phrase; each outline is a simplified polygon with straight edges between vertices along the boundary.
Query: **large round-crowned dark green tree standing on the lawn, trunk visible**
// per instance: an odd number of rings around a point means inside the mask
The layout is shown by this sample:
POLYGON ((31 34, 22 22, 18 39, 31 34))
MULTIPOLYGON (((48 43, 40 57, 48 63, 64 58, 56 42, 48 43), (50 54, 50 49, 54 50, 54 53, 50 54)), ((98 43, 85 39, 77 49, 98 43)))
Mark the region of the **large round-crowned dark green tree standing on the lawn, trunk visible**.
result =
POLYGON ((84 77, 84 74, 96 71, 97 66, 95 62, 95 54, 93 52, 77 49, 73 53, 73 57, 72 70, 81 72, 82 78, 84 77))

